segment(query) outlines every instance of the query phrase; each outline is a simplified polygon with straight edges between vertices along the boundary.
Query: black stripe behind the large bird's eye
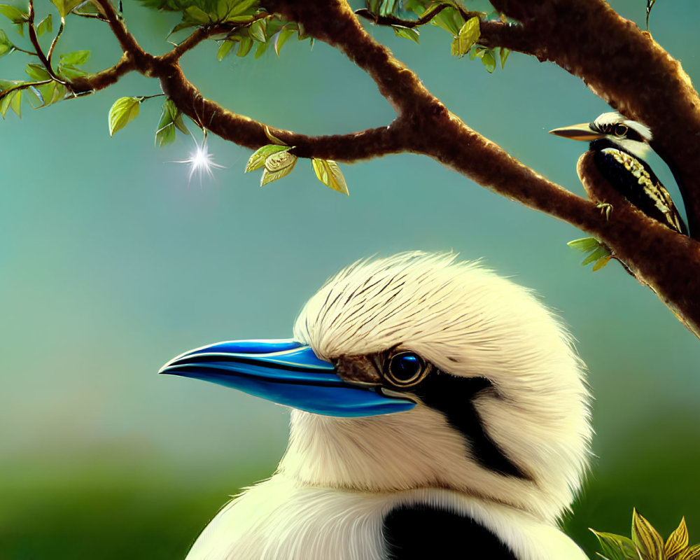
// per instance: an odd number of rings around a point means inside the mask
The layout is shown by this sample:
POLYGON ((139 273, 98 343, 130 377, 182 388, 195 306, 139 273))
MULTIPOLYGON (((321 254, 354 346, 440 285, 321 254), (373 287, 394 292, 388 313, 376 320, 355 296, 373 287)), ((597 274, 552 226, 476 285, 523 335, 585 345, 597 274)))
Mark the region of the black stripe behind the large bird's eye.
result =
POLYGON ((485 377, 458 377, 435 370, 412 393, 430 408, 442 412, 451 426, 459 430, 479 465, 502 475, 527 478, 486 433, 474 406, 477 393, 491 388, 491 381, 485 377))

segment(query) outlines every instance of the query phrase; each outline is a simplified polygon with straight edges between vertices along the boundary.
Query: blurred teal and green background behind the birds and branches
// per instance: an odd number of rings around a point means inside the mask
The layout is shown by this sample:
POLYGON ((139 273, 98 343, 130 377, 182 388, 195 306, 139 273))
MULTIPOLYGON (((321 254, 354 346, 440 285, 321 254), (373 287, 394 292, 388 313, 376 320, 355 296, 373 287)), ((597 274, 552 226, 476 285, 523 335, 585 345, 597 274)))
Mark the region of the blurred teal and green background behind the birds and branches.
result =
MULTIPOLYGON (((644 0, 611 3, 643 27, 644 0)), ((49 6, 38 1, 39 15, 49 6)), ((133 0, 124 13, 145 48, 169 48, 176 17, 133 0)), ((58 52, 93 49, 90 71, 114 64, 120 50, 105 25, 76 19, 58 52)), ((699 20, 697 1, 662 1, 650 26, 694 80, 699 20)), ((585 146, 547 134, 608 110, 580 80, 517 53, 489 75, 450 57, 442 29, 424 29, 420 46, 371 32, 466 123, 583 193, 575 164, 585 146)), ((202 45, 183 67, 237 113, 307 134, 393 118, 374 83, 327 45, 291 40, 279 58, 221 63, 216 49, 202 45)), ((0 77, 21 79, 27 62, 3 57, 0 77)), ((160 100, 107 132, 118 97, 158 92, 130 75, 0 123, 0 558, 182 558, 229 494, 274 470, 288 411, 158 377, 159 367, 209 342, 288 337, 339 267, 412 249, 484 258, 570 325, 596 397, 596 458, 567 521, 575 540, 592 555, 587 527, 627 534, 635 506, 664 535, 685 514, 700 541, 700 342, 617 263, 581 267, 566 246, 581 232, 416 155, 343 165, 344 197, 303 160, 261 189, 258 173, 243 173, 251 151, 210 138, 225 167, 188 183, 174 161, 192 141, 153 145, 160 100)), ((673 185, 658 158, 652 165, 673 185)))

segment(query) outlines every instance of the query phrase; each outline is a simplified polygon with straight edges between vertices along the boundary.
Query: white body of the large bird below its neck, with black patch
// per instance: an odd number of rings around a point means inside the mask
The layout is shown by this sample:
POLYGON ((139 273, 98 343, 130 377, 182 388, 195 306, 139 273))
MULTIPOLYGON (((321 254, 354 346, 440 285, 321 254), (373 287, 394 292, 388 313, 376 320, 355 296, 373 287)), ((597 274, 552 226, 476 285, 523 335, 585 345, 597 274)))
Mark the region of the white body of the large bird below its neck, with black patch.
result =
POLYGON ((412 560, 455 547, 465 559, 585 558, 554 527, 449 491, 346 492, 276 475, 219 512, 188 560, 412 560))

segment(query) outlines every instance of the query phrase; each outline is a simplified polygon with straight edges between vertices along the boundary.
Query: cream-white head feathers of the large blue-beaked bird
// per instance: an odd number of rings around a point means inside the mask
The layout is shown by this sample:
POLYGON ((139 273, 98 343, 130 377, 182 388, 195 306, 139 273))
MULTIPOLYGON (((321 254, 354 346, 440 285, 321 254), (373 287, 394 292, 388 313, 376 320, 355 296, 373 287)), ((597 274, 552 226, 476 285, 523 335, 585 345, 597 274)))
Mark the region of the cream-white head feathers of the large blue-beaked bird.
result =
POLYGON ((589 458, 590 396, 570 336, 529 290, 454 255, 402 253, 339 272, 311 297, 295 339, 325 359, 400 349, 444 372, 486 377, 484 430, 528 477, 479 464, 445 417, 419 403, 363 418, 293 411, 279 470, 310 486, 444 488, 555 521, 589 458))

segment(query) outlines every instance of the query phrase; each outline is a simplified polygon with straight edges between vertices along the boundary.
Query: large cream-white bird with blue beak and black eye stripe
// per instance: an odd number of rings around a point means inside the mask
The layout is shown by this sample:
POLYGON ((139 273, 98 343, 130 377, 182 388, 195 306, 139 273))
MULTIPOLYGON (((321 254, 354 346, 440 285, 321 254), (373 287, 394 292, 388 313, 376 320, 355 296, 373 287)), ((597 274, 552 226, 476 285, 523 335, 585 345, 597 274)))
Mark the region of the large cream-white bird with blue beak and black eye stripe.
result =
POLYGON ((292 407, 270 479, 188 560, 585 560, 557 526, 589 458, 570 336, 525 288, 454 255, 356 262, 289 340, 222 342, 161 370, 292 407))

